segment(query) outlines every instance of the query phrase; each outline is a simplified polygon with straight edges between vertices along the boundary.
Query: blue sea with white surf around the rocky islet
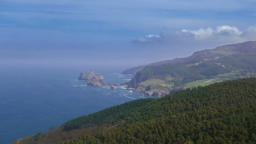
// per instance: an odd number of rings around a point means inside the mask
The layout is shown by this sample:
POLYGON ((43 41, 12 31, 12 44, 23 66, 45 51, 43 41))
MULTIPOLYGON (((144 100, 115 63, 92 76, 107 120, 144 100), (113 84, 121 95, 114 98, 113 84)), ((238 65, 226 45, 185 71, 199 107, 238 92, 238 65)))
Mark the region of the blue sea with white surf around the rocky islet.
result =
MULTIPOLYGON (((35 66, 0 69, 0 144, 9 144, 92 112, 148 98, 117 86, 87 86, 78 81, 84 68, 35 66)), ((121 70, 122 71, 122 70, 121 70)), ((98 70, 105 82, 124 83, 133 75, 98 70)))

